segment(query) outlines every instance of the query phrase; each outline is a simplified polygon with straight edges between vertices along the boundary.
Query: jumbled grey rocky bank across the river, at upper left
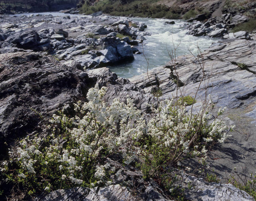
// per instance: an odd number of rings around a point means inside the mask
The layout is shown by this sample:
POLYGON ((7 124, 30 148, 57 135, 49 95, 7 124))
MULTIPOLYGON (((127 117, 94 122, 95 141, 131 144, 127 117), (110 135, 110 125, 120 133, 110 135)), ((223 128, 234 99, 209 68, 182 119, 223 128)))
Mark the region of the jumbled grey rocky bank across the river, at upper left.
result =
POLYGON ((45 51, 56 59, 97 68, 133 60, 143 41, 145 24, 96 13, 93 16, 4 16, 0 52, 45 51), (64 29, 64 30, 63 30, 64 29), (119 34, 119 38, 116 37, 119 34))

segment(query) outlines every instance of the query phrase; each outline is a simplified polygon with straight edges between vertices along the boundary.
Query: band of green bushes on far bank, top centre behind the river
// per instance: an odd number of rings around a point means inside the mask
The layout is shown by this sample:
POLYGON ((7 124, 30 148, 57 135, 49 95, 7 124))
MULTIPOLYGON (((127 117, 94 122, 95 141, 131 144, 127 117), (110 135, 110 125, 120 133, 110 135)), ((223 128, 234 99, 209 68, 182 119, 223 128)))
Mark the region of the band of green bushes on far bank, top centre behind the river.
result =
POLYGON ((140 17, 155 17, 155 18, 180 18, 178 10, 168 8, 165 5, 156 4, 154 0, 129 1, 122 3, 116 0, 103 0, 95 2, 93 5, 90 1, 86 1, 81 7, 81 12, 92 14, 94 12, 103 11, 110 15, 127 16, 134 15, 140 17))

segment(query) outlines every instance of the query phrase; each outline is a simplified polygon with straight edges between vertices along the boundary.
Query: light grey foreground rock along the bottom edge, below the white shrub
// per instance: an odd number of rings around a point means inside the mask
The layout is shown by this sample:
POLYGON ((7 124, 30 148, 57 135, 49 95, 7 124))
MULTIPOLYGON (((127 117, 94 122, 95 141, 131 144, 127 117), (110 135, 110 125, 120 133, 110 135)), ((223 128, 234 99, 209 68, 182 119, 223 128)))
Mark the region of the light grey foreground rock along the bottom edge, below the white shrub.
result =
MULTIPOLYGON (((121 172, 120 175, 111 175, 112 184, 105 187, 73 189, 59 189, 36 199, 37 201, 64 201, 64 200, 126 200, 126 201, 172 201, 160 186, 150 179, 145 181, 141 171, 132 166, 123 166, 117 161, 107 159, 111 167, 116 167, 121 172), (136 185, 136 188, 134 188, 136 185), (130 191, 129 189, 132 189, 130 191)), ((183 182, 185 199, 191 201, 253 201, 246 192, 235 188, 232 184, 208 183, 203 179, 187 175, 182 171, 175 170, 177 175, 181 175, 183 182), (188 184, 190 187, 188 188, 188 184)))

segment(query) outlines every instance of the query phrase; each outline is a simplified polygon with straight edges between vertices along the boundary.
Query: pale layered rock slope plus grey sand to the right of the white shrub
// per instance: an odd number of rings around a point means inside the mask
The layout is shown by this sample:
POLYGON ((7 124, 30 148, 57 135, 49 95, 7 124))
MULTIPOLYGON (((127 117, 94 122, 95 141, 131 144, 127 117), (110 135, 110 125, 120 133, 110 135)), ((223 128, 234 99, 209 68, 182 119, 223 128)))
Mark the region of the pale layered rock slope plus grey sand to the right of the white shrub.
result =
MULTIPOLYGON (((235 124, 237 129, 232 132, 228 143, 213 148, 208 160, 223 182, 228 180, 229 174, 234 175, 236 171, 247 176, 255 172, 255 34, 251 39, 213 43, 202 55, 180 56, 175 65, 170 62, 166 66, 150 70, 148 74, 129 79, 146 93, 152 93, 153 84, 155 91, 160 92, 160 99, 176 97, 179 79, 178 96, 182 93, 184 96, 194 97, 197 92, 194 111, 201 108, 201 102, 208 94, 217 108, 228 108, 223 117, 228 124, 235 124), (198 88, 203 76, 207 81, 198 88)), ((184 164, 197 166, 192 160, 184 164)))

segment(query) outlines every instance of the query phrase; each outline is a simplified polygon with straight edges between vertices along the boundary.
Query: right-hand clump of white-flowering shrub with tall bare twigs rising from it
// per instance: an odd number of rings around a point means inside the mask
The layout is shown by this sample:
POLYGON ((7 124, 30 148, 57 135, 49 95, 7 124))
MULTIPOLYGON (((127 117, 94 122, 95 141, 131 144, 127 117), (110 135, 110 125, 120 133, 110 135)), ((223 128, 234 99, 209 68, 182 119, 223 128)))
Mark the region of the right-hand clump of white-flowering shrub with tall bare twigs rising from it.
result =
POLYGON ((210 122, 211 105, 192 115, 185 105, 174 103, 172 99, 164 100, 159 103, 158 109, 152 109, 154 116, 148 121, 148 132, 142 145, 145 163, 141 164, 141 168, 145 178, 152 176, 159 168, 180 166, 180 161, 186 157, 198 156, 199 162, 205 164, 208 145, 223 143, 230 136, 227 135, 230 127, 217 119, 225 108, 219 109, 210 122))

